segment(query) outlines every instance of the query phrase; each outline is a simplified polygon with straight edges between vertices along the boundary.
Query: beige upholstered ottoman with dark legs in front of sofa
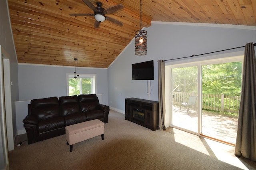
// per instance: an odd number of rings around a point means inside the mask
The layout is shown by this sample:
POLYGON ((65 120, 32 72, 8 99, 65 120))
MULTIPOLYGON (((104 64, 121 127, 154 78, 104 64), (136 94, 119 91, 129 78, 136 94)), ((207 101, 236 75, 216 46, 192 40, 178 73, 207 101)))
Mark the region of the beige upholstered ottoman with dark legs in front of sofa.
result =
POLYGON ((101 134, 104 139, 104 123, 98 119, 77 123, 66 127, 67 145, 70 145, 70 152, 73 150, 73 144, 93 138, 101 134))

